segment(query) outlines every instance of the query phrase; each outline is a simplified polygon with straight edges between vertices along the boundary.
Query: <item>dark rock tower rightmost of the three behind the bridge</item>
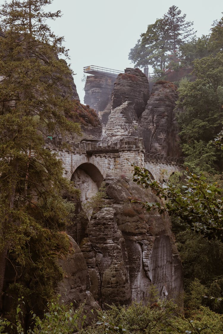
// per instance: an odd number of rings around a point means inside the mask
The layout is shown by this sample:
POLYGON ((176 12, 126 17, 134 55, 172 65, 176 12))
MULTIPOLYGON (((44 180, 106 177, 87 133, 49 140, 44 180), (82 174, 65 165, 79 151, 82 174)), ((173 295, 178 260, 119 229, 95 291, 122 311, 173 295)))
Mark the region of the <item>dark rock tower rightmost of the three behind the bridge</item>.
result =
POLYGON ((146 152, 179 157, 178 127, 175 120, 177 87, 168 81, 153 85, 148 104, 141 117, 141 129, 146 152))

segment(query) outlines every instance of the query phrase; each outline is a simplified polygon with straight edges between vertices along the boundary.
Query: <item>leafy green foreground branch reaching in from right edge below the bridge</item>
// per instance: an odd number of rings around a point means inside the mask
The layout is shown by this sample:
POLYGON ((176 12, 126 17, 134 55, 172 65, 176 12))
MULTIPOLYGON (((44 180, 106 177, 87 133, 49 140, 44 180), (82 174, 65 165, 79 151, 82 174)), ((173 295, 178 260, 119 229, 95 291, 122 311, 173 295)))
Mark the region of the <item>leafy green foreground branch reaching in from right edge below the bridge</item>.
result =
MULTIPOLYGON (((174 184, 162 187, 159 182, 152 180, 146 169, 134 166, 134 182, 150 187, 156 195, 166 202, 142 203, 147 211, 167 211, 176 215, 192 230, 204 234, 208 239, 219 238, 223 241, 223 198, 222 189, 217 183, 208 184, 206 177, 188 173, 184 193, 174 184)), ((140 201, 134 201, 139 202, 140 201)))

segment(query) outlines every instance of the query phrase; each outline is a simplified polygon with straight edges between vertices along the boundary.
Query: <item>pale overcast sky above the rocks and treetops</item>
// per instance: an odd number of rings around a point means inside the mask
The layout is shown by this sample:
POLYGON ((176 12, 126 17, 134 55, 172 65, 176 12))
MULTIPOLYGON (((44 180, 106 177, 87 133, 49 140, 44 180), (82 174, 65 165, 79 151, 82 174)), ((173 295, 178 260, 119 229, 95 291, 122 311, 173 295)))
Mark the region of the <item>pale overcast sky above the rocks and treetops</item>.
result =
MULTIPOLYGON (((3 0, 0 0, 3 3, 3 0)), ((134 67, 128 60, 148 24, 176 5, 187 21, 194 21, 197 36, 208 34, 214 20, 223 14, 222 0, 54 0, 51 11, 60 9, 62 18, 50 21, 51 29, 65 37, 74 81, 84 101, 83 67, 96 65, 124 70, 134 67)))

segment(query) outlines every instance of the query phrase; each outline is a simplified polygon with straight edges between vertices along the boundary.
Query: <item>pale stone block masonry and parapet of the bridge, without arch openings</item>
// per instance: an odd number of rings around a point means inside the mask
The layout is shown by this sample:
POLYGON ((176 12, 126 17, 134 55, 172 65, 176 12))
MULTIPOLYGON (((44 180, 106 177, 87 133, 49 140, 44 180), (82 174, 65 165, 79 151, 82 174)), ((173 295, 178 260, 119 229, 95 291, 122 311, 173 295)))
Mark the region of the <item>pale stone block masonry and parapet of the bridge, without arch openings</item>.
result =
POLYGON ((138 139, 132 140, 128 138, 128 140, 120 141, 118 150, 116 147, 115 152, 101 152, 100 150, 102 149, 108 150, 109 145, 103 147, 103 145, 101 145, 102 142, 98 142, 97 147, 99 151, 95 152, 95 144, 92 144, 91 148, 94 151, 91 153, 88 144, 89 143, 73 145, 71 146, 74 149, 72 151, 60 150, 55 146, 52 147, 50 143, 46 145, 46 148, 51 150, 52 153, 58 154, 58 158, 63 162, 64 176, 68 179, 72 178, 75 170, 82 164, 94 165, 103 178, 113 170, 130 174, 133 170, 132 164, 140 168, 148 169, 156 180, 162 180, 162 178, 169 179, 173 172, 180 170, 180 163, 174 158, 145 155, 143 144, 138 139))

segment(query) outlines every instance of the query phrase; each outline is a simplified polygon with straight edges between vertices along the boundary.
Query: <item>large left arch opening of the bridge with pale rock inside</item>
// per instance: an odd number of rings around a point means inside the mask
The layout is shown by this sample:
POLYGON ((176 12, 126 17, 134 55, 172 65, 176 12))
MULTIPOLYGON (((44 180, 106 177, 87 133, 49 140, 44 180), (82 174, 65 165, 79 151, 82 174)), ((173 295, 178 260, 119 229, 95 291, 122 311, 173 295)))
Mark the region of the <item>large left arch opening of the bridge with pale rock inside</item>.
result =
POLYGON ((81 202, 86 203, 98 192, 103 181, 103 175, 95 165, 85 162, 75 169, 71 180, 81 191, 81 202))

